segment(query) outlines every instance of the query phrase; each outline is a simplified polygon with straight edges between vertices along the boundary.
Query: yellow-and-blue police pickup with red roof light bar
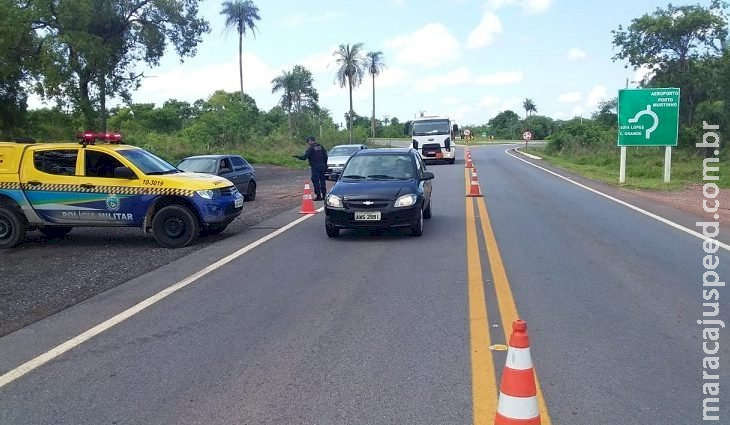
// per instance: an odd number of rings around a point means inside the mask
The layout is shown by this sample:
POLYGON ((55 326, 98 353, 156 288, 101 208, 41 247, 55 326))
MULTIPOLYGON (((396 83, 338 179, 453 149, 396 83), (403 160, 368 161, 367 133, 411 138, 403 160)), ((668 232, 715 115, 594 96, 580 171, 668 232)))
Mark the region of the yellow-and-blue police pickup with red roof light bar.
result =
POLYGON ((227 179, 184 173, 122 144, 118 133, 77 138, 0 142, 0 248, 29 230, 59 238, 77 226, 138 227, 179 248, 222 232, 241 214, 243 196, 227 179))

